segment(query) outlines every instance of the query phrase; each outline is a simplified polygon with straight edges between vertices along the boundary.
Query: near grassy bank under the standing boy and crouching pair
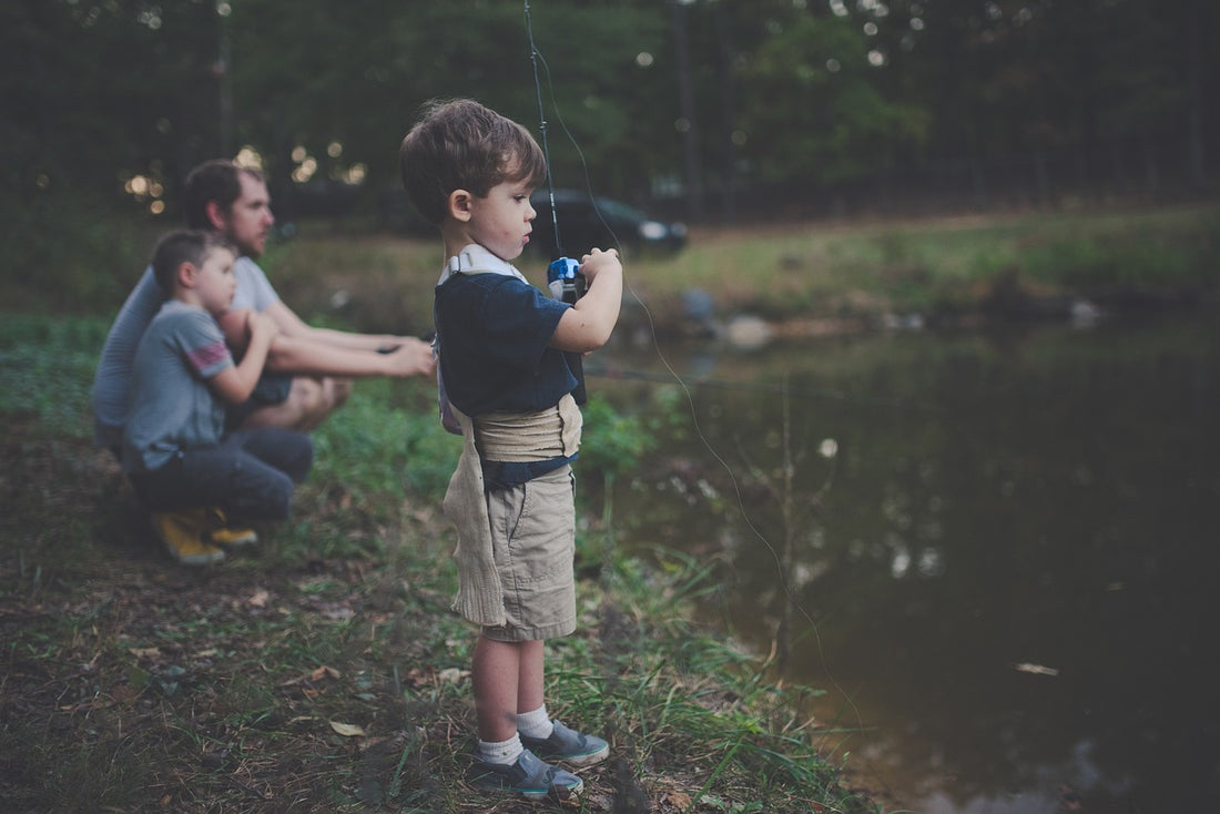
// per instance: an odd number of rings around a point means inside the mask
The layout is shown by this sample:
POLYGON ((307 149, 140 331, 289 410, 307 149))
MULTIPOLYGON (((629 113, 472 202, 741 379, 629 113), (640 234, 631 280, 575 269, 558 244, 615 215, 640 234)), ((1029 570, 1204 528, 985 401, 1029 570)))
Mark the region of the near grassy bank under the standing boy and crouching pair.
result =
MULTIPOLYGON (((534 810, 459 782, 472 639, 448 610, 458 450, 432 388, 362 382, 294 519, 255 555, 179 567, 88 439, 106 327, 0 315, 0 809, 534 810)), ((643 433, 620 417, 590 450, 643 433)), ((691 621, 703 567, 608 553, 582 513, 583 624, 548 674, 553 713, 614 744, 582 810, 877 810, 820 757, 834 735, 793 716, 814 691, 691 621)))

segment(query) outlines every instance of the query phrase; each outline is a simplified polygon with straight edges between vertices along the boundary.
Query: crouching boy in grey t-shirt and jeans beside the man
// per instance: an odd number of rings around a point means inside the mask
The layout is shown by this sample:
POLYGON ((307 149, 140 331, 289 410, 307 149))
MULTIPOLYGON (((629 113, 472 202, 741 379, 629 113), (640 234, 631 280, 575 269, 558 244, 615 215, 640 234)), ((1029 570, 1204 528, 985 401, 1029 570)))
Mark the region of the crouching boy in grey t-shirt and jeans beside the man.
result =
POLYGON ((227 519, 285 520, 293 484, 314 461, 309 436, 300 432, 224 433, 226 405, 250 397, 277 331, 271 317, 249 311, 245 355, 234 364, 216 319, 233 303, 235 259, 215 232, 179 231, 161 239, 152 270, 167 299, 132 365, 123 471, 150 510, 195 517, 195 533, 162 536, 171 555, 189 565, 224 558, 206 536, 209 527, 227 519))

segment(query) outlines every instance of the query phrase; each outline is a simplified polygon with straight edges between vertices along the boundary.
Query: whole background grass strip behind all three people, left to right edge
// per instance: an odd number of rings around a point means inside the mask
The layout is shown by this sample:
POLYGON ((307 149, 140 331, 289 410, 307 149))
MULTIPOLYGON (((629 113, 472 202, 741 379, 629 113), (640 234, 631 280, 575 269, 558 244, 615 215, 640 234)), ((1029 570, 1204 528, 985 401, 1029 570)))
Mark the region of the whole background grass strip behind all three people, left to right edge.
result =
MULTIPOLYGON (((93 214, 95 215, 95 214, 93 214)), ((99 216, 104 217, 104 216, 99 216)), ((7 308, 110 314, 146 264, 148 222, 94 217, 89 234, 0 271, 7 308), (73 247, 82 256, 73 256, 73 247), (45 255, 45 256, 44 256, 45 255)), ((440 242, 301 223, 262 259, 293 309, 320 325, 423 334, 440 242)), ((168 227, 166 227, 168 228, 168 227)), ((356 227, 353 227, 355 229, 356 227)), ((997 286, 1030 295, 1115 298, 1154 289, 1198 297, 1216 288, 1220 205, 989 214, 906 221, 695 227, 673 256, 626 258, 628 306, 638 297, 671 330, 682 294, 710 292, 721 315, 770 320, 937 315, 975 309, 997 286)), ((540 281, 544 261, 520 267, 540 281)), ((630 311, 628 311, 630 316, 630 311)))

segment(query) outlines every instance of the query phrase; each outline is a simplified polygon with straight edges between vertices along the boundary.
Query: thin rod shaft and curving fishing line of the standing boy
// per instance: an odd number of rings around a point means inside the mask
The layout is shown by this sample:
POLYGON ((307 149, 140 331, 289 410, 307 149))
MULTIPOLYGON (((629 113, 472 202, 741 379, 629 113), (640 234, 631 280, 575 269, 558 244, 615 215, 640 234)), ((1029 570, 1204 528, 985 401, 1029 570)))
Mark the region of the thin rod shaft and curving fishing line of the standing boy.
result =
MULTIPOLYGON (((549 156, 548 148, 547 148, 547 117, 545 117, 545 110, 543 109, 543 103, 542 103, 542 81, 540 81, 539 73, 538 73, 538 63, 539 62, 542 63, 543 70, 545 71, 545 74, 547 74, 547 85, 550 89, 550 99, 551 99, 551 105, 554 106, 554 110, 555 110, 555 118, 559 122, 559 124, 562 128, 565 135, 567 137, 569 142, 571 142, 572 148, 576 150, 576 153, 577 153, 577 155, 580 157, 581 167, 582 167, 583 173, 584 173, 586 189, 587 189, 587 192, 589 194, 589 201, 590 201, 590 204, 593 206, 593 211, 597 214, 598 218, 600 220, 601 226, 605 227, 606 232, 611 236, 611 239, 615 243, 615 248, 619 250, 619 256, 622 258, 622 255, 623 255, 623 253, 622 253, 622 244, 619 240, 617 234, 615 234, 614 229, 610 227, 610 225, 605 221, 605 217, 601 215, 601 211, 599 210, 598 204, 597 204, 597 198, 593 194, 593 182, 592 182, 592 178, 589 176, 589 167, 588 167, 588 162, 584 159, 584 153, 581 150, 581 146, 580 146, 578 142, 576 140, 576 137, 567 128, 567 124, 564 122, 562 115, 560 113, 560 107, 559 107, 558 100, 555 99, 554 83, 551 82, 551 77, 550 77, 550 67, 547 65, 547 60, 542 56, 542 54, 538 51, 537 45, 534 44, 533 24, 532 24, 531 16, 529 16, 529 0, 523 0, 523 1, 525 1, 526 33, 527 33, 527 37, 528 37, 528 40, 529 40, 529 59, 531 59, 531 62, 533 63, 534 92, 536 92, 536 96, 537 96, 537 100, 538 100, 538 117, 539 117, 539 121, 540 121, 540 131, 542 131, 542 140, 543 140, 543 154, 544 154, 544 157, 547 160, 547 182, 548 182, 548 185, 550 188, 549 189, 549 194, 550 194, 550 211, 551 211, 551 218, 553 218, 553 221, 555 221, 555 244, 556 244, 556 248, 560 245, 559 244, 559 227, 558 227, 558 216, 555 214, 555 190, 554 190, 554 184, 553 184, 553 181, 551 181, 550 156, 549 156)), ((623 264, 623 265, 625 265, 625 271, 626 271, 626 264, 623 264)), ((669 372, 669 375, 672 377, 672 380, 677 383, 677 386, 681 388, 683 395, 686 397, 687 405, 688 405, 688 408, 691 410, 691 420, 692 420, 692 423, 694 425, 694 431, 695 431, 695 434, 699 438, 699 442, 708 450, 708 453, 716 460, 716 463, 720 464, 720 466, 725 470, 726 475, 728 475, 728 480, 730 480, 730 482, 732 483, 732 487, 733 487, 733 493, 734 493, 734 495, 737 498, 738 510, 742 514, 742 520, 744 521, 747 528, 749 528, 750 533, 754 535, 754 537, 758 538, 758 541, 761 542, 766 547, 766 549, 771 553, 771 558, 775 560, 776 570, 777 570, 777 572, 780 574, 780 577, 781 577, 780 578, 780 583, 783 587, 783 592, 784 592, 788 602, 792 604, 793 608, 795 608, 798 611, 800 611, 800 615, 809 624, 809 629, 810 629, 810 631, 814 635, 814 639, 815 639, 815 642, 817 644, 817 653, 819 653, 819 657, 821 658, 822 669, 826 672, 827 680, 831 682, 831 685, 834 687, 834 690, 838 691, 839 694, 842 694, 843 698, 847 701, 847 703, 850 705, 852 711, 854 713, 856 722, 859 725, 859 729, 863 730, 864 729, 864 722, 863 722, 863 715, 860 713, 859 707, 856 707, 854 698, 847 692, 847 690, 842 685, 839 685, 838 680, 834 679, 833 674, 831 672, 830 664, 826 660, 826 650, 825 650, 825 647, 824 647, 822 635, 821 635, 820 626, 817 625, 817 622, 814 620, 813 615, 805 609, 805 607, 800 603, 800 600, 797 598, 795 593, 793 592, 793 588, 792 588, 792 586, 789 583, 789 580, 784 575, 783 561, 782 561, 782 559, 780 556, 780 553, 776 550, 775 546, 771 544, 771 541, 767 539, 766 535, 764 535, 762 531, 750 519, 749 513, 745 509, 745 497, 742 493, 742 487, 741 487, 741 483, 737 480, 737 475, 733 472, 733 467, 728 464, 728 461, 725 460, 725 458, 719 452, 716 452, 716 449, 712 445, 711 441, 709 441, 708 437, 704 434, 703 427, 699 423, 699 416, 698 416, 698 411, 697 411, 695 403, 694 403, 694 395, 691 392, 691 388, 687 386, 687 383, 682 378, 682 376, 673 369, 673 366, 670 364, 669 359, 666 359, 665 353, 661 350, 661 345, 660 345, 660 342, 658 339, 656 322, 655 322, 655 320, 653 317, 651 309, 648 308, 648 304, 636 292, 634 287, 631 284, 631 281, 627 278, 626 273, 623 273, 623 283, 625 283, 625 287, 626 287, 627 292, 630 292, 631 297, 636 300, 636 303, 640 306, 640 309, 643 309, 645 320, 648 322, 648 328, 649 328, 649 332, 651 334, 653 348, 656 350, 658 359, 660 360, 661 365, 665 367, 665 370, 669 372)), ((786 398, 787 398, 787 395, 786 395, 786 398)), ((824 487, 824 489, 825 489, 825 487, 824 487)))

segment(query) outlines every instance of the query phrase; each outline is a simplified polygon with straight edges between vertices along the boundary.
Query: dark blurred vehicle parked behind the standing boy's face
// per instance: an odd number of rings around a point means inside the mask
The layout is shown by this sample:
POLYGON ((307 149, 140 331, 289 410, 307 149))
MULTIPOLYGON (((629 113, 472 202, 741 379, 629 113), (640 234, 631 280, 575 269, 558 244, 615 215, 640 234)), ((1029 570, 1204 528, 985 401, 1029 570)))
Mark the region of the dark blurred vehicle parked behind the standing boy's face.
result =
MULTIPOLYGON (((560 256, 550 215, 550 193, 539 189, 529 198, 538 212, 529 236, 529 248, 554 260, 560 256)), ((555 211, 559 215, 559 236, 562 254, 580 259, 592 248, 625 251, 660 249, 678 251, 686 245, 683 223, 654 221, 633 206, 609 198, 594 198, 575 189, 555 190, 555 211)))

